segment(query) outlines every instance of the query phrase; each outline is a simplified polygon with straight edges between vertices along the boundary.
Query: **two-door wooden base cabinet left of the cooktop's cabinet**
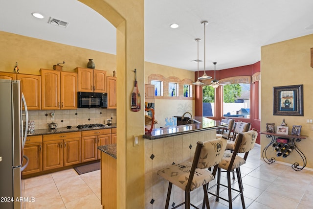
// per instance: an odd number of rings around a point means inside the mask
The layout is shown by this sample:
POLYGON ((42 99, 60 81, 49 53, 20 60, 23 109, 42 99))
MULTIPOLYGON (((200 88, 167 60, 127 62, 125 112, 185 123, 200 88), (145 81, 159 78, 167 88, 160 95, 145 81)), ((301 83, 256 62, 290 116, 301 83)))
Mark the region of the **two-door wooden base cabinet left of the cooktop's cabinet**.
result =
POLYGON ((44 135, 43 170, 80 163, 81 133, 44 135))

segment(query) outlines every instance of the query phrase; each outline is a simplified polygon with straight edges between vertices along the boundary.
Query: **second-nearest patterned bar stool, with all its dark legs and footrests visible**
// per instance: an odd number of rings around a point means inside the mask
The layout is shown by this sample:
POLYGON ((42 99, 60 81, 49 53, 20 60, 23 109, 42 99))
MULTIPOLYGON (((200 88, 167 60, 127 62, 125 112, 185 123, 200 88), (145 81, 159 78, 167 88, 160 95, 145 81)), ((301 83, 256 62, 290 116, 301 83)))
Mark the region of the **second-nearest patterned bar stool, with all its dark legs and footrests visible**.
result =
POLYGON ((209 194, 216 197, 216 201, 219 201, 221 198, 224 201, 228 202, 229 209, 232 209, 232 201, 237 197, 241 196, 241 202, 243 209, 246 208, 244 194, 243 194, 243 183, 241 178, 240 166, 246 163, 246 159, 248 157, 249 151, 253 149, 256 138, 258 136, 258 132, 256 130, 247 131, 245 133, 239 133, 237 139, 235 140, 235 147, 233 153, 225 152, 223 160, 218 165, 218 172, 217 172, 217 184, 211 186, 208 190, 212 189, 213 187, 217 187, 216 194, 208 191, 209 194), (244 157, 240 157, 237 155, 238 153, 245 153, 244 157), (221 184, 221 171, 222 169, 226 170, 227 172, 227 186, 221 184), (232 188, 231 180, 230 180, 230 173, 231 171, 236 170, 237 178, 238 178, 238 186, 239 190, 232 188), (228 199, 220 196, 220 186, 225 186, 228 188, 228 199), (237 195, 232 198, 232 191, 236 191, 237 195))

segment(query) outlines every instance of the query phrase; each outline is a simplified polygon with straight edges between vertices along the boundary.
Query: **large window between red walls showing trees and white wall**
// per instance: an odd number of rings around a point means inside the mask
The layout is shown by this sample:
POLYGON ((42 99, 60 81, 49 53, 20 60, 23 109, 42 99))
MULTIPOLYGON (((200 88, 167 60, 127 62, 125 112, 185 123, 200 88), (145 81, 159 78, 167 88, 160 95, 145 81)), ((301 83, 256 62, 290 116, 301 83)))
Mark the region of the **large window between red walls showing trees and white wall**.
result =
POLYGON ((250 84, 223 87, 223 116, 250 117, 250 84))

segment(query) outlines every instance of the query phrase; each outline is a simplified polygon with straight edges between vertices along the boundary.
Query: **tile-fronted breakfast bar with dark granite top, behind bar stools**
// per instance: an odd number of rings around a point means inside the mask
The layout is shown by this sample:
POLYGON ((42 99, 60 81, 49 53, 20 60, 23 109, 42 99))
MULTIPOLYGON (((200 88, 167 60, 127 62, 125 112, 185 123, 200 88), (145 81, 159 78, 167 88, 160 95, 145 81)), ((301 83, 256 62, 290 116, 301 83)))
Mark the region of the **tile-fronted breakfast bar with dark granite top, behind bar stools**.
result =
MULTIPOLYGON (((156 172, 165 166, 184 161, 192 162, 197 141, 216 139, 216 130, 227 126, 221 121, 206 117, 195 117, 194 124, 169 126, 153 129, 143 135, 145 146, 145 208, 164 208, 163 199, 166 197, 166 183, 156 172)), ((184 199, 184 192, 174 189, 172 203, 184 199)), ((193 195, 192 202, 202 202, 203 191, 193 195)))

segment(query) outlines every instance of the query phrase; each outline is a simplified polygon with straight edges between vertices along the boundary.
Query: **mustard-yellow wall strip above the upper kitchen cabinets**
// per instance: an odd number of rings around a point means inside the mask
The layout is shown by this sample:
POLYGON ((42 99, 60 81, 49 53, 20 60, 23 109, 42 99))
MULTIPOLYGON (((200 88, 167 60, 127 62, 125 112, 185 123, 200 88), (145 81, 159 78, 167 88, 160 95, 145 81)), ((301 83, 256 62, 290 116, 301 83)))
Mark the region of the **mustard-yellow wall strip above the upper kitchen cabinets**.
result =
POLYGON ((107 70, 113 76, 116 70, 116 56, 104 52, 89 50, 34 39, 0 31, 0 71, 13 72, 18 62, 20 73, 39 75, 39 70, 53 69, 53 65, 62 64, 64 71, 74 71, 76 67, 87 68, 88 59, 93 59, 95 69, 107 70))

